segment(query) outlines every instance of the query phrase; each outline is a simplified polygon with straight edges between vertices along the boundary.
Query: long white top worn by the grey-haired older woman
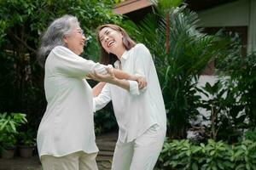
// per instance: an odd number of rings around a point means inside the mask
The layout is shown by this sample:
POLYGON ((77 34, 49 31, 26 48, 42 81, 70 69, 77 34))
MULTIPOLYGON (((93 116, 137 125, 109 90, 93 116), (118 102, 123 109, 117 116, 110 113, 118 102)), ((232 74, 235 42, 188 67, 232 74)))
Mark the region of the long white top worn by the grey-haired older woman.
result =
POLYGON ((92 91, 84 77, 94 71, 105 74, 105 68, 62 46, 50 52, 44 77, 48 105, 37 138, 40 157, 66 156, 79 150, 98 151, 92 91))

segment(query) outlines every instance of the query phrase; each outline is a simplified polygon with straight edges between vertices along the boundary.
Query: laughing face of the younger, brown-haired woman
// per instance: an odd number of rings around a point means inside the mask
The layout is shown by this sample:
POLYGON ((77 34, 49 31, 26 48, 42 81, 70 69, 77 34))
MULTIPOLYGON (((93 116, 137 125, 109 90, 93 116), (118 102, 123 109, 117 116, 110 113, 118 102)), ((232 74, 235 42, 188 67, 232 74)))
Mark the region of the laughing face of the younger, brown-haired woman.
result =
POLYGON ((110 27, 104 27, 99 31, 99 40, 108 53, 115 54, 116 50, 123 47, 123 35, 120 31, 113 30, 110 27))

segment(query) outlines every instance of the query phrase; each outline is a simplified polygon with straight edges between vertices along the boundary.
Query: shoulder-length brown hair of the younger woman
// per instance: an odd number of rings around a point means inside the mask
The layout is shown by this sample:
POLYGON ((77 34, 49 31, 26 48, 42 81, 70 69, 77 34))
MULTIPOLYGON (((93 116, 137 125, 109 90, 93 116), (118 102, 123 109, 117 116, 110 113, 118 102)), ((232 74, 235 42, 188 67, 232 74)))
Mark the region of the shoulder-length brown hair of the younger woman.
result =
POLYGON ((99 32, 102 31, 102 29, 105 27, 109 27, 115 31, 119 31, 122 33, 123 44, 124 44, 126 50, 133 48, 136 45, 136 42, 134 42, 131 39, 131 37, 129 37, 127 32, 120 26, 116 26, 113 24, 106 24, 106 25, 98 26, 96 29, 96 32, 97 32, 97 39, 98 39, 99 45, 101 47, 100 63, 102 63, 103 65, 109 65, 109 64, 113 65, 113 63, 118 59, 118 57, 115 54, 111 54, 111 53, 108 54, 108 52, 102 47, 102 43, 101 43, 100 37, 99 37, 99 32))

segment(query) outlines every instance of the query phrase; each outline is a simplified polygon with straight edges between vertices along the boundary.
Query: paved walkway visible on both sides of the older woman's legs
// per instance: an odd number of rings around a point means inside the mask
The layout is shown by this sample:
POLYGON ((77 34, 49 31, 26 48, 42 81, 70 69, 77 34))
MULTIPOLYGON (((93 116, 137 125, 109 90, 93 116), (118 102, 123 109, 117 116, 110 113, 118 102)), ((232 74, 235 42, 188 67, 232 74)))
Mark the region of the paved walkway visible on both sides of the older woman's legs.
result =
MULTIPOLYGON (((100 150, 96 158, 99 170, 110 170, 116 139, 117 133, 96 137, 96 144, 100 150)), ((42 170, 42 167, 38 156, 32 156, 32 158, 15 156, 13 159, 0 158, 0 170, 42 170)))

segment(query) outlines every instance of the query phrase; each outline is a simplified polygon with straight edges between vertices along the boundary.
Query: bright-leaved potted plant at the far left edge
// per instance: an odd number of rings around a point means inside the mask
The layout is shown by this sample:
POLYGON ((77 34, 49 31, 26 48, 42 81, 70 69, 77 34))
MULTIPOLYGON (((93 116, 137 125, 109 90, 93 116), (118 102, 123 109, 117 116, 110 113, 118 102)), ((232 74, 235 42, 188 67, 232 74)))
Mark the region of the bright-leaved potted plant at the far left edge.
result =
POLYGON ((26 114, 0 113, 0 153, 3 158, 15 156, 18 134, 16 127, 26 122, 26 114))

